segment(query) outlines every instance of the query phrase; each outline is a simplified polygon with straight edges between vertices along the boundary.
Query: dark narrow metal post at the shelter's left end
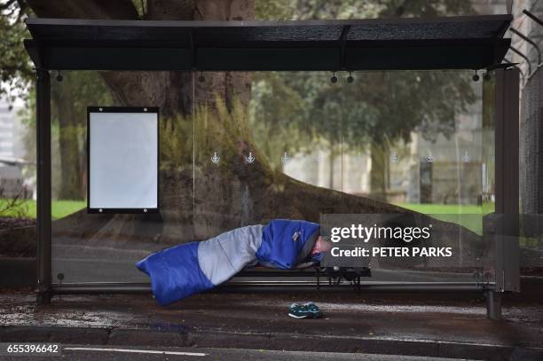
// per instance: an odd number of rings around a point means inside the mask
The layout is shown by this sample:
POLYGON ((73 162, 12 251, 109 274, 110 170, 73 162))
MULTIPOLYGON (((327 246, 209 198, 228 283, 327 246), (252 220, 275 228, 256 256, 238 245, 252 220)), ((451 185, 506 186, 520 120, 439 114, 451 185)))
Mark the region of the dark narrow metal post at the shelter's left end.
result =
POLYGON ((37 302, 51 302, 51 79, 36 69, 37 302))

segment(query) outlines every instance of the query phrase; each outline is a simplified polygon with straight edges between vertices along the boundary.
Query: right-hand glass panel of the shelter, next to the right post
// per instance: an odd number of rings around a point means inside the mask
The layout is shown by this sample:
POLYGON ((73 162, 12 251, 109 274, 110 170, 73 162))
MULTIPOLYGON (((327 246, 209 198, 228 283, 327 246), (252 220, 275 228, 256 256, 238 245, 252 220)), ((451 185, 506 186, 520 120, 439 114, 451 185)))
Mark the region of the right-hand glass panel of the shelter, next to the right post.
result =
MULTIPOLYGON (((373 259, 372 280, 483 279, 483 264, 492 267, 482 204, 493 142, 484 161, 482 81, 473 82, 467 71, 357 73, 355 79, 360 85, 352 102, 366 103, 375 119, 372 123, 372 114, 351 112, 352 119, 343 121, 343 192, 429 216, 431 242, 409 247, 453 249, 451 257, 373 259), (380 86, 365 90, 368 83, 380 86), (360 123, 370 128, 349 140, 360 123), (392 271, 398 269, 404 271, 392 271)), ((487 208, 492 211, 492 205, 487 208)))

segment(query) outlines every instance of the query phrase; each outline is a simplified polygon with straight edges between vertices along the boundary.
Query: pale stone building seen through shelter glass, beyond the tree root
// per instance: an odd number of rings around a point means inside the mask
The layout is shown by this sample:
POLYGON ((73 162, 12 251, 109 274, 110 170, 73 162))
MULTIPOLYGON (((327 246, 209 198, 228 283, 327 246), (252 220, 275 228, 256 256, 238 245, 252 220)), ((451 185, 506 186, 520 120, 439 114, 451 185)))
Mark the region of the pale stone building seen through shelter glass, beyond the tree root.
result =
POLYGON ((407 144, 391 147, 385 164, 377 166, 384 173, 384 195, 371 189, 374 165, 369 147, 350 151, 343 146, 342 153, 330 160, 326 146, 312 146, 311 153, 295 154, 283 170, 308 184, 392 203, 480 205, 486 169, 480 89, 474 83, 477 100, 465 113, 455 115, 449 137, 439 134, 428 140, 423 130, 417 130, 407 144))

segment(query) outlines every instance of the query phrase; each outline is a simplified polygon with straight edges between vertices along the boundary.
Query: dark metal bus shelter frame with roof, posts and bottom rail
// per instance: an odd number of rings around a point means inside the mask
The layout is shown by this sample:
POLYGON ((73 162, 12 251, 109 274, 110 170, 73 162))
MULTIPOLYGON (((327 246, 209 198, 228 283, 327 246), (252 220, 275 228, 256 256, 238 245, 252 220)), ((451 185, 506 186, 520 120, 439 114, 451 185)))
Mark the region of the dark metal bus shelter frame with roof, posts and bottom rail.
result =
MULTIPOLYGON (((146 21, 28 19, 36 73, 37 302, 53 294, 141 293, 148 284, 51 281, 53 70, 357 71, 487 69, 495 72, 496 213, 518 218, 519 72, 500 65, 511 15, 400 20, 146 21)), ((500 234, 516 235, 515 222, 500 234)), ((482 291, 489 318, 500 294, 519 291, 518 244, 498 238, 495 282, 361 285, 408 292, 482 291), (507 256, 506 256, 507 255, 507 256)))

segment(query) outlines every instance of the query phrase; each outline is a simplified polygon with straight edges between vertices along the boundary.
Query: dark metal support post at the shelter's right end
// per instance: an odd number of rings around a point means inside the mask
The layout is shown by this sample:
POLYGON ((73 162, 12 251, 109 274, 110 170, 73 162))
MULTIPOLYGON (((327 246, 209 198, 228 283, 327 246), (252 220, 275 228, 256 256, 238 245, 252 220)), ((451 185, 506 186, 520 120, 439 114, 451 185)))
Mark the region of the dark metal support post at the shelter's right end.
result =
POLYGON ((489 318, 500 318, 500 293, 520 291, 519 263, 519 71, 496 71, 495 287, 487 293, 489 318))

